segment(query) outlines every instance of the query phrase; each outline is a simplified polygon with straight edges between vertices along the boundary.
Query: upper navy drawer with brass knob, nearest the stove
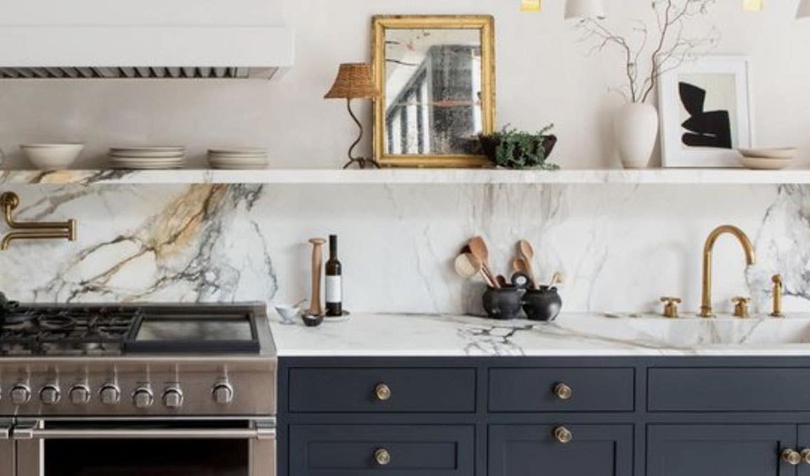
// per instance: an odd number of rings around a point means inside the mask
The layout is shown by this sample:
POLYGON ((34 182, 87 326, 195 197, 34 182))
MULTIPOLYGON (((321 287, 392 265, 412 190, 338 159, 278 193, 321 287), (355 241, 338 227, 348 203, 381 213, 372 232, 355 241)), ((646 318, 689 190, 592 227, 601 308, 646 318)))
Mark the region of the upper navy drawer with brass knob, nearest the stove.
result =
POLYGON ((293 413, 475 411, 474 368, 291 368, 289 377, 293 413))

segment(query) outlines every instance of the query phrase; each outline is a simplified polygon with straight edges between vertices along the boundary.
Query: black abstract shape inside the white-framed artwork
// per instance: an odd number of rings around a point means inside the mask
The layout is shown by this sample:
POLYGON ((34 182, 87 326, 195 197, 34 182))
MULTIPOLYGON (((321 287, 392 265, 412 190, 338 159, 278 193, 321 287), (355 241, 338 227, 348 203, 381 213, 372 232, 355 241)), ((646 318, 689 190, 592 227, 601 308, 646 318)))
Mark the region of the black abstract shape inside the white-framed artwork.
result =
POLYGON ((706 90, 689 83, 679 83, 680 100, 691 115, 682 125, 684 144, 689 147, 731 149, 731 116, 728 111, 704 111, 706 90))

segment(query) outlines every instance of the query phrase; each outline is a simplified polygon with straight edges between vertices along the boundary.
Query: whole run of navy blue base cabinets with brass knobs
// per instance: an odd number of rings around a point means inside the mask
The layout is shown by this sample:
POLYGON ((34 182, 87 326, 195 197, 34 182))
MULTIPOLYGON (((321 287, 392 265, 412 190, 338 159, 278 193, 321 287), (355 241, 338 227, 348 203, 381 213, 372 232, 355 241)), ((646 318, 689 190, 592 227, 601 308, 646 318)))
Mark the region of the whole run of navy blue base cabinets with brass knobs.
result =
POLYGON ((279 474, 810 476, 808 382, 804 357, 282 357, 279 474))

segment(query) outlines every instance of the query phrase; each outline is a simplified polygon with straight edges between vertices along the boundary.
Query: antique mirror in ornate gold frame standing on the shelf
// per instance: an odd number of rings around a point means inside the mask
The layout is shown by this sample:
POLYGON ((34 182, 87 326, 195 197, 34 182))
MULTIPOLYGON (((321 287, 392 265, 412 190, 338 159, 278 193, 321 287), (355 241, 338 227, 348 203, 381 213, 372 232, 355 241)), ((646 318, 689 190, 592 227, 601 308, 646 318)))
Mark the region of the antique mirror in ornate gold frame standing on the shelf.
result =
POLYGON ((372 30, 380 164, 492 166, 477 136, 495 131, 495 19, 377 15, 372 30))

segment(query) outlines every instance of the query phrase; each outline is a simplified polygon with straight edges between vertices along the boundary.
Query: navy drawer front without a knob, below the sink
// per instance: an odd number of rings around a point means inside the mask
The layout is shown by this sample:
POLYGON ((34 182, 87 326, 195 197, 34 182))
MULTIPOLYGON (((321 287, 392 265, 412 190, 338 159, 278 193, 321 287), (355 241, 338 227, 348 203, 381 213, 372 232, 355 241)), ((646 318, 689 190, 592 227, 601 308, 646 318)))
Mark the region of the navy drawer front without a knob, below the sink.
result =
POLYGON ((650 368, 650 411, 810 411, 810 368, 650 368))

